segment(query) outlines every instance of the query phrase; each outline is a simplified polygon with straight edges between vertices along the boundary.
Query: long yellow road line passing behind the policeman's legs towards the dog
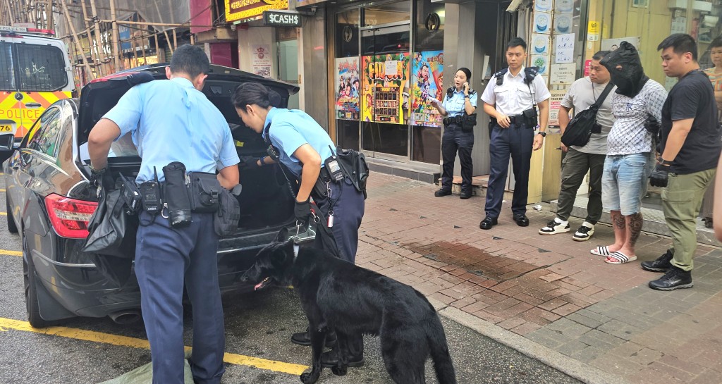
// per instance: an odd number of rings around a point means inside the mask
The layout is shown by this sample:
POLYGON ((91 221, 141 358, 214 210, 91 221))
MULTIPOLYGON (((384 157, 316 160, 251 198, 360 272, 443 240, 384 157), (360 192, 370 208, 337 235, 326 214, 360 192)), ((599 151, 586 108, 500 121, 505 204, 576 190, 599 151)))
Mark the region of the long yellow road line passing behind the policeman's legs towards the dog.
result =
MULTIPOLYGON (((7 329, 17 331, 41 333, 50 336, 61 336, 69 339, 93 341, 95 343, 112 344, 116 346, 129 346, 131 348, 150 349, 147 340, 136 339, 134 337, 113 335, 110 333, 102 333, 96 331, 86 331, 84 329, 66 328, 66 327, 50 327, 50 328, 32 328, 27 321, 14 320, 9 318, 0 318, 0 331, 7 329)), ((190 350, 190 346, 186 346, 186 350, 190 350)), ((287 362, 277 362, 269 359, 259 359, 258 357, 243 356, 242 354, 232 354, 226 352, 223 355, 223 361, 235 364, 245 365, 248 367, 256 367, 261 370, 271 370, 274 372, 287 373, 289 375, 300 375, 308 367, 305 365, 291 364, 287 362)))

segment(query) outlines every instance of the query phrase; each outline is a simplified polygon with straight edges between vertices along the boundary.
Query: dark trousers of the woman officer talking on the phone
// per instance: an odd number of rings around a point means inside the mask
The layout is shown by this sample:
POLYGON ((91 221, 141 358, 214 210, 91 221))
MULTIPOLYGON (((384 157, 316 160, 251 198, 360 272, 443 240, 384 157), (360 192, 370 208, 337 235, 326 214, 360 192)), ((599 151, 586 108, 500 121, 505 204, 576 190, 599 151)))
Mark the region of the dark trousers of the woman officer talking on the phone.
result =
POLYGON ((441 137, 443 160, 441 188, 451 191, 453 164, 458 151, 458 160, 461 162, 461 190, 471 191, 471 173, 474 170, 474 164, 471 162, 471 149, 473 148, 474 131, 464 132, 461 130, 461 124, 456 123, 445 126, 444 134, 441 137))

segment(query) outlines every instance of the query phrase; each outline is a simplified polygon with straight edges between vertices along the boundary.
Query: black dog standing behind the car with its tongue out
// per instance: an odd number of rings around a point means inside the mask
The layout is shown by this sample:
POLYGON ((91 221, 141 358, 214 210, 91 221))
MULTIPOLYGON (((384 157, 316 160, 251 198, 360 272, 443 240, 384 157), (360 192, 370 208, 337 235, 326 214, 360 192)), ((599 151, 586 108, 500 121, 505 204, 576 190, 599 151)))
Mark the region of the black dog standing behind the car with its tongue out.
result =
POLYGON ((322 250, 302 246, 294 256, 291 240, 271 243, 258 252, 245 281, 261 289, 268 284, 292 284, 308 317, 313 349, 305 384, 321 375, 326 332, 336 331, 339 364, 335 375, 347 372, 348 335, 380 336, 386 370, 398 384, 425 383, 425 362, 431 355, 440 384, 456 384, 446 336, 434 307, 406 284, 355 266, 322 250))

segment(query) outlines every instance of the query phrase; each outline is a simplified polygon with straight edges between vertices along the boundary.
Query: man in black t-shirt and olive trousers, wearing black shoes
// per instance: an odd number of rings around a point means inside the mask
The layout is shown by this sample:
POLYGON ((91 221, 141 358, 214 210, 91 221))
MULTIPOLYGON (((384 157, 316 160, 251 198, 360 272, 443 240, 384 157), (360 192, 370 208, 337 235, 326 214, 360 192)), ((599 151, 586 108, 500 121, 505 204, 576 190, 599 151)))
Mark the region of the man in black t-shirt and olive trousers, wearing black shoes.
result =
POLYGON ((657 47, 662 68, 679 82, 669 91, 662 107, 661 154, 651 185, 662 190, 664 219, 672 235, 672 248, 655 261, 645 261, 647 271, 665 272, 649 282, 663 291, 692 287, 692 256, 697 249, 695 219, 707 187, 715 178, 722 151, 717 103, 707 75, 697 64, 697 43, 690 35, 676 33, 657 47))

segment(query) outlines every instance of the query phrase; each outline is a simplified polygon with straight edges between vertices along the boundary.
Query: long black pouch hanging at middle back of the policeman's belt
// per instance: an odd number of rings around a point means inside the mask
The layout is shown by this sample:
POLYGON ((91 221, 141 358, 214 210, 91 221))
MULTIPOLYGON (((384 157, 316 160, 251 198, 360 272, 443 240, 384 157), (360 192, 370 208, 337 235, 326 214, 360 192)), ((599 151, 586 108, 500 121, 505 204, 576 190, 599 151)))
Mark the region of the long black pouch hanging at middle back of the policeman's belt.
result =
POLYGON ((186 166, 182 162, 171 162, 163 167, 163 175, 163 198, 168 207, 170 226, 188 227, 191 224, 191 199, 186 186, 186 166))

